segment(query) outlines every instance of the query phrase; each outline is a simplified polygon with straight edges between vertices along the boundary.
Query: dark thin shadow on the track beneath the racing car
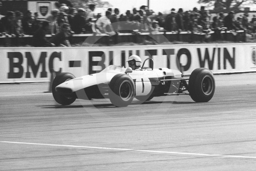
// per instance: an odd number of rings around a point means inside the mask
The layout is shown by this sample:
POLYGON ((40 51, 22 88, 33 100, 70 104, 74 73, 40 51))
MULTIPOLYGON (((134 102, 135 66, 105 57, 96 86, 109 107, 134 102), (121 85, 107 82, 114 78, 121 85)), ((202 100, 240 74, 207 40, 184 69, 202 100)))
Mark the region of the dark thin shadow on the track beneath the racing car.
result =
MULTIPOLYGON (((146 101, 146 102, 140 102, 140 101, 135 101, 132 102, 131 105, 145 105, 145 104, 160 104, 160 103, 172 103, 172 104, 189 104, 189 103, 196 103, 196 102, 177 102, 177 101, 164 101, 164 102, 156 102, 156 101, 146 101)), ((36 107, 42 107, 43 109, 65 109, 65 108, 117 108, 115 105, 112 103, 107 103, 107 104, 85 104, 85 105, 43 105, 43 106, 36 106, 36 107)))

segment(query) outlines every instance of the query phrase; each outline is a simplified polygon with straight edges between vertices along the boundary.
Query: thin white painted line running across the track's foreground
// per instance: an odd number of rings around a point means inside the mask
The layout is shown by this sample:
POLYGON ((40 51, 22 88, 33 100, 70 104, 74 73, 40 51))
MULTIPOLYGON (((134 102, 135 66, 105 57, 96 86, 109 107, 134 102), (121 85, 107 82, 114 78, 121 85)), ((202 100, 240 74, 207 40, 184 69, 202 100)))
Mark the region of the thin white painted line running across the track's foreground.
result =
POLYGON ((256 157, 250 157, 250 156, 234 156, 234 155, 220 155, 220 154, 180 153, 180 152, 168 152, 168 151, 133 150, 133 149, 125 149, 125 148, 108 148, 108 147, 91 147, 91 146, 72 146, 72 145, 24 143, 24 142, 10 142, 10 141, 0 141, 0 142, 2 142, 2 143, 15 143, 15 144, 44 145, 44 146, 64 146, 64 147, 80 147, 80 148, 97 148, 97 149, 106 149, 106 150, 140 151, 140 152, 149 152, 149 153, 171 153, 171 154, 187 154, 187 155, 200 155, 200 156, 236 157, 236 158, 251 158, 251 159, 256 159, 256 157))

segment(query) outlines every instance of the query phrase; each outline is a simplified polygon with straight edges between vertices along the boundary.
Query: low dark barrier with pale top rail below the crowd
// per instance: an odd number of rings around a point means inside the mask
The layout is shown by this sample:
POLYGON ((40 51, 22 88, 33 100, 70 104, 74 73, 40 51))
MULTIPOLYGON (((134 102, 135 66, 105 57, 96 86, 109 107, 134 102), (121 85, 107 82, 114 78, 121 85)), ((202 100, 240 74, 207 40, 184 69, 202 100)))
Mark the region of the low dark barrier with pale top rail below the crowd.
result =
MULTIPOLYGON (((155 41, 157 43, 164 42, 211 42, 214 40, 226 40, 233 42, 246 42, 245 31, 222 31, 217 34, 217 32, 155 32, 153 33, 116 33, 114 36, 108 36, 107 34, 73 34, 69 37, 71 44, 82 44, 85 40, 88 44, 104 44, 109 45, 110 43, 118 44, 124 42, 132 42, 143 44, 146 40, 155 41), (89 39, 88 39, 89 38, 89 39)), ((46 35, 47 38, 51 38, 52 35, 46 35)), ((16 35, 4 34, 0 36, 1 46, 18 46, 18 45, 30 45, 33 46, 33 36, 24 35, 22 37, 17 37, 16 35)))

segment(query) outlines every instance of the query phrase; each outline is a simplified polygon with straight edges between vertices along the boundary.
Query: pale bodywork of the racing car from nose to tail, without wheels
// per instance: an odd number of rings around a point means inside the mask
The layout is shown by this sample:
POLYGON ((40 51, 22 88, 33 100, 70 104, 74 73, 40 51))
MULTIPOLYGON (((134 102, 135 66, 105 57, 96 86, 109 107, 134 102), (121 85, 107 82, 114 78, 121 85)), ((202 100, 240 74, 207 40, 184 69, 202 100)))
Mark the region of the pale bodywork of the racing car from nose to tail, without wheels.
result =
MULTIPOLYGON (((102 88, 104 84, 109 83, 117 74, 125 74, 125 70, 126 68, 124 67, 110 65, 100 73, 85 75, 63 82, 58 85, 55 90, 61 93, 76 92, 76 94, 78 94, 79 91, 84 89, 88 98, 83 99, 101 98, 102 96, 98 96, 99 92, 97 87, 99 90, 102 90, 100 88, 102 88), (94 92, 96 96, 93 96, 92 92, 94 92)), ((134 81, 135 96, 148 96, 150 93, 152 94, 152 89, 161 84, 160 80, 181 78, 180 71, 168 68, 134 70, 132 73, 127 73, 127 75, 134 81)), ((101 91, 101 94, 105 95, 104 98, 108 98, 107 92, 101 91)), ((79 98, 79 96, 77 96, 77 98, 79 98)))

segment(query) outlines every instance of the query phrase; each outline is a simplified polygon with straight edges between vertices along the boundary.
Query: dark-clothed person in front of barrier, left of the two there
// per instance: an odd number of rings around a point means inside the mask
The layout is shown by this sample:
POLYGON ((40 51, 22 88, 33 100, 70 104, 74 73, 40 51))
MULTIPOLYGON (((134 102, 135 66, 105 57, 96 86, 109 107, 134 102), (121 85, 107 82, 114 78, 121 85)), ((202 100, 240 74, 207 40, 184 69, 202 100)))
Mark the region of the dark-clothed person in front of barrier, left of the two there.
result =
POLYGON ((54 45, 51 42, 49 42, 45 37, 46 32, 49 30, 49 24, 50 24, 49 21, 46 21, 46 20, 43 21, 42 28, 39 28, 35 32, 33 36, 33 40, 34 40, 33 45, 35 47, 51 47, 54 45))

